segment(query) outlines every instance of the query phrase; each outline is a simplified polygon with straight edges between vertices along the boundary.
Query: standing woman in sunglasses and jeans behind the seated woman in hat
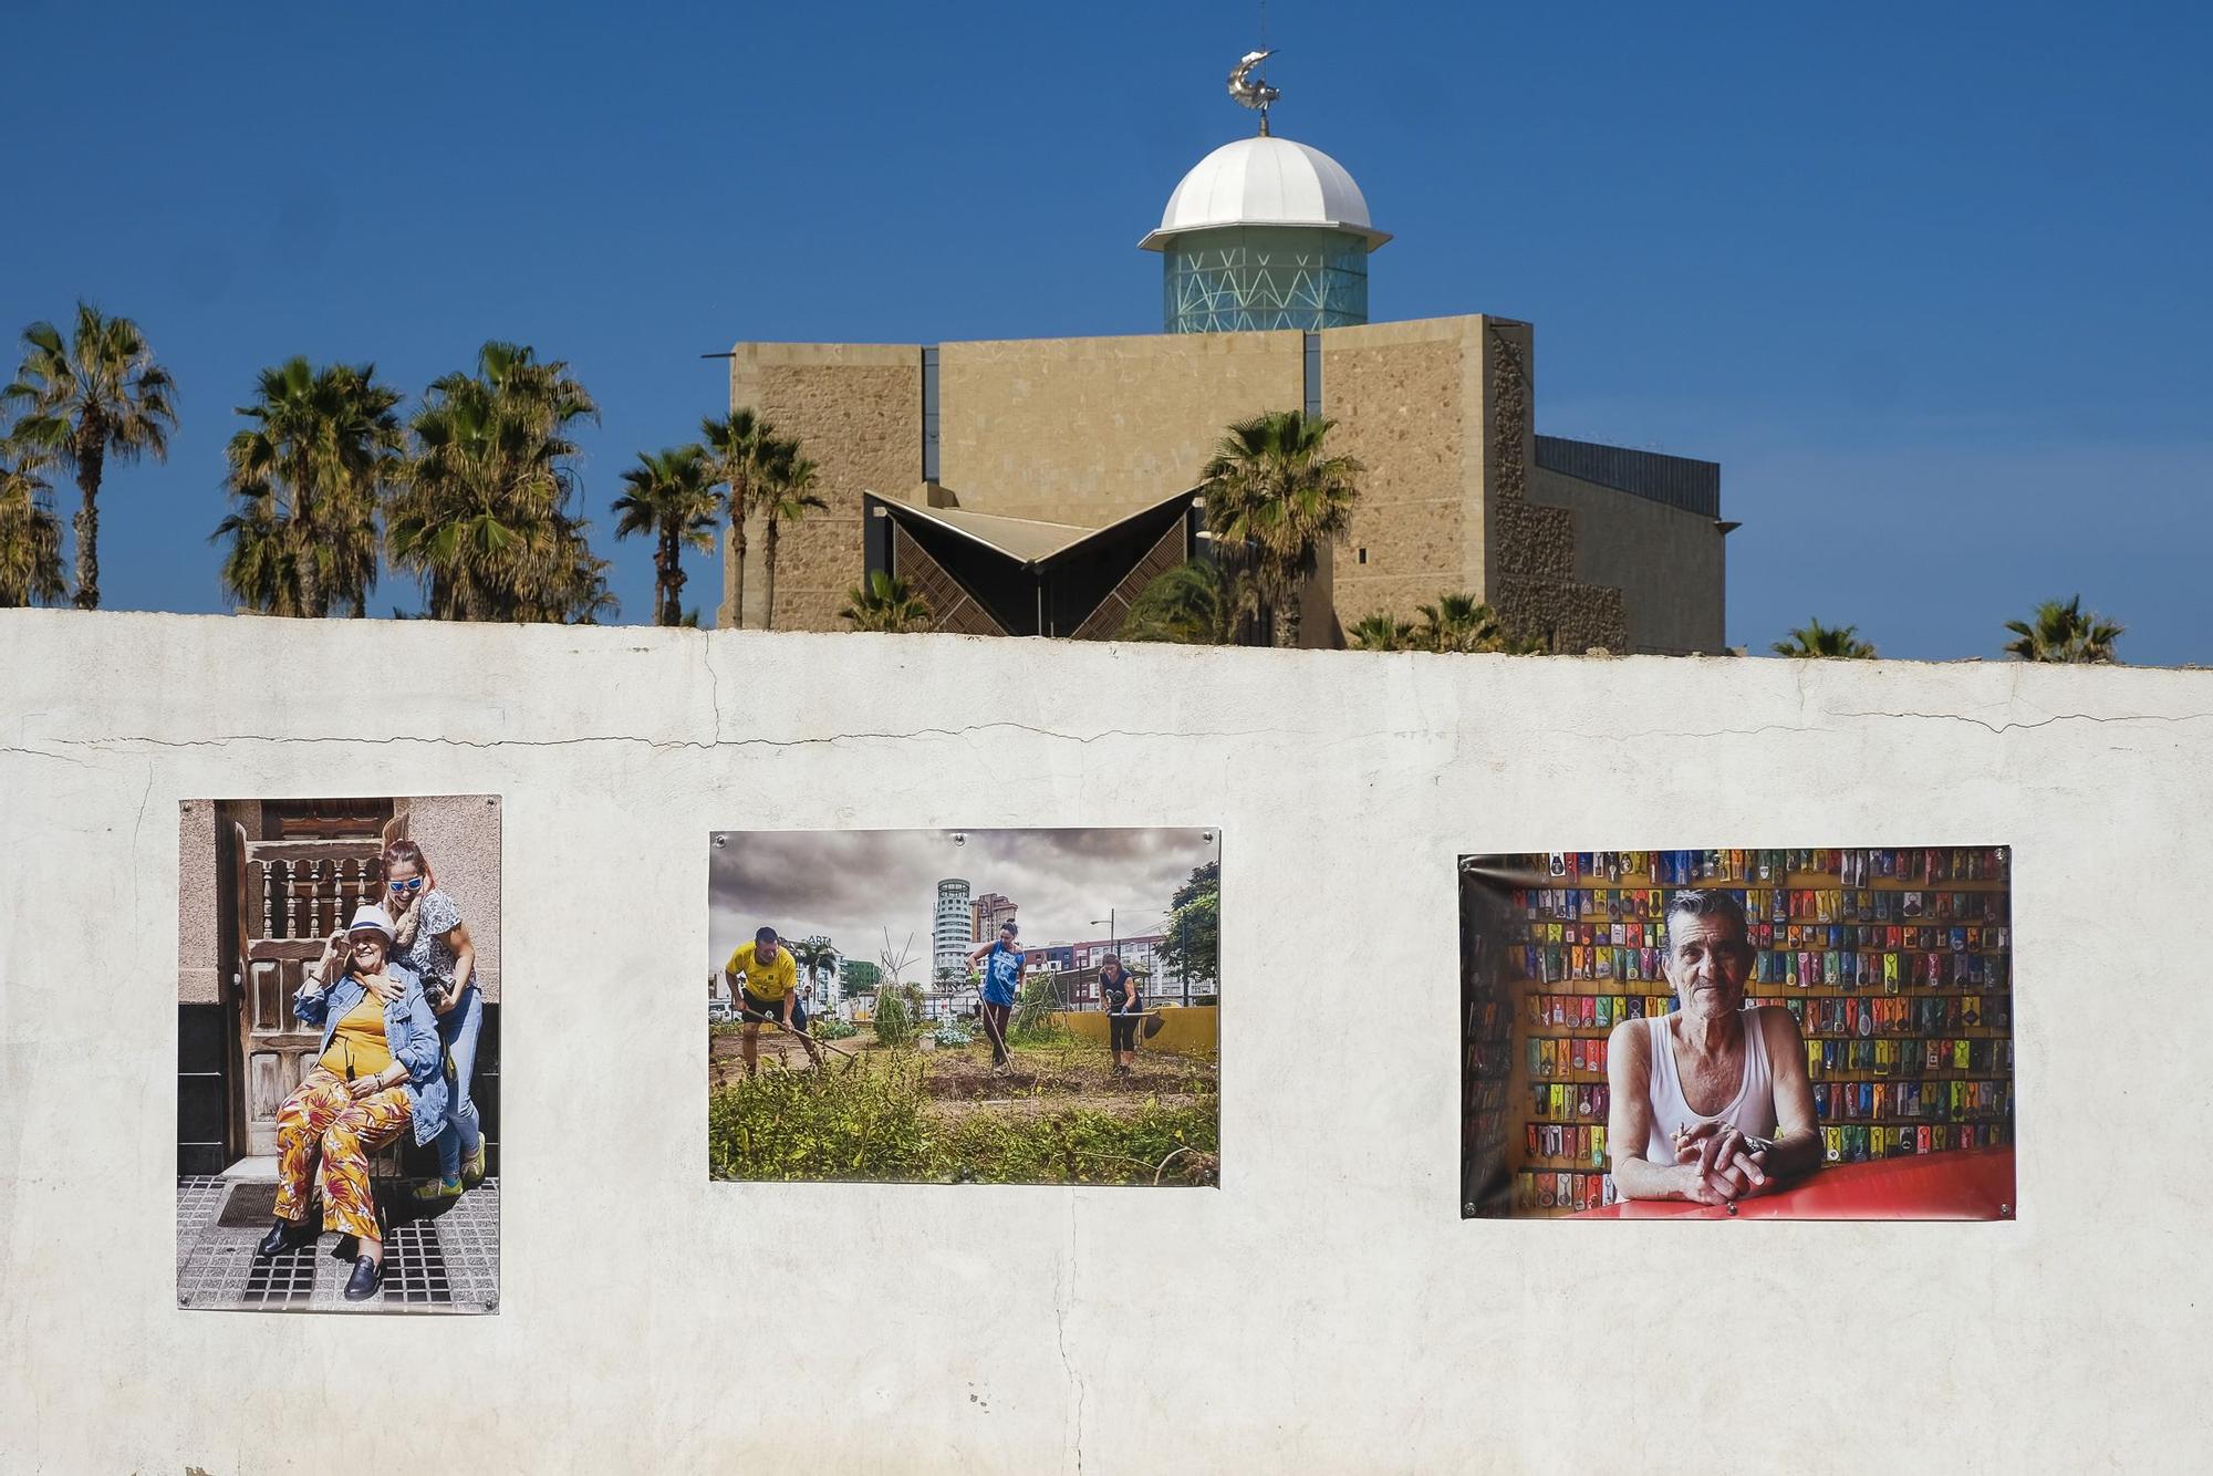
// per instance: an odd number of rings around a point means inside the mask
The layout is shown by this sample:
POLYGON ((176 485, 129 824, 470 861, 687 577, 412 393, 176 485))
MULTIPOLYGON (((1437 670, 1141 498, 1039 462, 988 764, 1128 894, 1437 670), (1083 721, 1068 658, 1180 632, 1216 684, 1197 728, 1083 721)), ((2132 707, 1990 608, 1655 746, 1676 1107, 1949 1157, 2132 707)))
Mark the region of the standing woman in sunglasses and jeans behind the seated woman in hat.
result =
POLYGON ((485 1029, 485 1000, 476 989, 476 945, 460 907, 438 890, 438 879, 414 841, 389 841, 383 852, 385 916, 392 918, 394 956, 423 978, 423 996, 438 1016, 438 1036, 454 1060, 454 1087, 438 1133, 438 1182, 416 1188, 416 1199, 458 1199, 485 1182, 485 1129, 469 1078, 476 1075, 476 1036, 485 1029), (467 1157, 467 1162, 463 1162, 467 1157))

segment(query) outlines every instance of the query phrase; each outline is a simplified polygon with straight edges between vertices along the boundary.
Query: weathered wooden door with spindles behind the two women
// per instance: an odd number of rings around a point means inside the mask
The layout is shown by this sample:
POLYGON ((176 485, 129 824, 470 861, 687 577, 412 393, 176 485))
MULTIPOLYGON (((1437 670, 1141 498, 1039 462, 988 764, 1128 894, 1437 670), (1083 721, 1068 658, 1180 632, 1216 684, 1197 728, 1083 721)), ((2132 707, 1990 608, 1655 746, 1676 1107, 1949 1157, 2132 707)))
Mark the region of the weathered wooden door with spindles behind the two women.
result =
MULTIPOLYGON (((290 828, 279 828, 285 834, 290 828)), ((376 836, 248 841, 232 825, 232 987, 239 996, 239 1109, 246 1153, 277 1153, 277 1109, 308 1075, 323 1033, 299 1022, 292 996, 381 883, 376 836)))

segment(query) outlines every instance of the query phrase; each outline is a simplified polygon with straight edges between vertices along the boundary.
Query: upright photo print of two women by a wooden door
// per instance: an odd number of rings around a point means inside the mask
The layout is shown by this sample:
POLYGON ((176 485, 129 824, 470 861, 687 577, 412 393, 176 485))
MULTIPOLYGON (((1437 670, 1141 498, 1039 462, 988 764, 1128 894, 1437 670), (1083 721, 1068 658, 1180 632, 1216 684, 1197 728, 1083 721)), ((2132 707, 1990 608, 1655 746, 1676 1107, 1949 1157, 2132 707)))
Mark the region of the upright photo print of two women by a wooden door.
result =
POLYGON ((500 801, 186 801, 177 1301, 500 1299, 500 801))

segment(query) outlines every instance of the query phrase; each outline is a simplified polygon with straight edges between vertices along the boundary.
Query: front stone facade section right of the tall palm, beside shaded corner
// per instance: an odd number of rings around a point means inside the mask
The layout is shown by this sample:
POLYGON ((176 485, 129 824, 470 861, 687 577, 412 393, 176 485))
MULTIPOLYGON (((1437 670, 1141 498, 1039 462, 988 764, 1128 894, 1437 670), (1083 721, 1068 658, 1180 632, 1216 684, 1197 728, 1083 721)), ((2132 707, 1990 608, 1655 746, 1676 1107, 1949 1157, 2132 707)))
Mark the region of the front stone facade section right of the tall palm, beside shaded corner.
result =
POLYGON ((1483 595, 1483 319, 1323 332, 1321 412, 1337 420, 1330 449, 1365 467, 1332 558, 1337 620, 1412 620, 1441 593, 1483 595))

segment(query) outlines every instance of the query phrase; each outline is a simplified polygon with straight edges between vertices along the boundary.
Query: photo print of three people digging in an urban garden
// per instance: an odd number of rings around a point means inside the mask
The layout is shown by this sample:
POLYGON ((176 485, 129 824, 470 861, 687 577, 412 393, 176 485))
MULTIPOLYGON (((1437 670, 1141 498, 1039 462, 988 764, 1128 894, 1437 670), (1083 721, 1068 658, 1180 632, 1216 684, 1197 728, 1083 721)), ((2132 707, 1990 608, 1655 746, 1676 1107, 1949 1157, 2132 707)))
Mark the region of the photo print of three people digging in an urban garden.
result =
POLYGON ((1219 1184, 1219 834, 713 834, 708 1175, 1219 1184))

